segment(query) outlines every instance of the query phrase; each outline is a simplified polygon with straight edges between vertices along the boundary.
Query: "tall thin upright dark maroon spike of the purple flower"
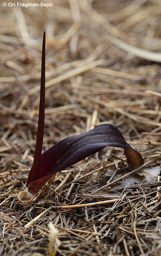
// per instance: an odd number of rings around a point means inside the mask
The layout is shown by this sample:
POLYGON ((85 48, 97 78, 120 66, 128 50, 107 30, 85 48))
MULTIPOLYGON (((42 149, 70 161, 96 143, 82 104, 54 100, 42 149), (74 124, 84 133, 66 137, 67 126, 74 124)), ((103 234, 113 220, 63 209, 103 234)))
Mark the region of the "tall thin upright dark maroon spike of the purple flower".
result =
MULTIPOLYGON (((40 160, 41 160, 41 151, 43 145, 44 137, 44 120, 45 120, 45 32, 43 36, 42 44, 42 59, 41 59, 41 83, 40 83, 40 104, 39 104, 39 122, 38 122, 38 132, 36 138, 35 154, 32 165, 33 172, 31 173, 30 182, 37 179, 40 160)), ((28 181, 27 181, 28 183, 28 181)), ((27 184, 28 186, 28 184, 27 184)))

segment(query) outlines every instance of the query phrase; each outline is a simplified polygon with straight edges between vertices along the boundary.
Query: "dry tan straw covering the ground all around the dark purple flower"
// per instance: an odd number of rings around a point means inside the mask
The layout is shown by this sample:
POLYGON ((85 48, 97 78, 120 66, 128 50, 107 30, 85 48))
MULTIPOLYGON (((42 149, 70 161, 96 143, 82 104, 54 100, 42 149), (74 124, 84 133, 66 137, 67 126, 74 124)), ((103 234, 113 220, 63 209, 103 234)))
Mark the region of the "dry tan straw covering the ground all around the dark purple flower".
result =
POLYGON ((0 255, 161 255, 161 2, 2 3, 0 255), (131 174, 129 182, 123 151, 105 148, 57 173, 32 203, 20 204, 36 142, 44 30, 43 150, 113 124, 150 160, 142 172, 151 178, 131 174))

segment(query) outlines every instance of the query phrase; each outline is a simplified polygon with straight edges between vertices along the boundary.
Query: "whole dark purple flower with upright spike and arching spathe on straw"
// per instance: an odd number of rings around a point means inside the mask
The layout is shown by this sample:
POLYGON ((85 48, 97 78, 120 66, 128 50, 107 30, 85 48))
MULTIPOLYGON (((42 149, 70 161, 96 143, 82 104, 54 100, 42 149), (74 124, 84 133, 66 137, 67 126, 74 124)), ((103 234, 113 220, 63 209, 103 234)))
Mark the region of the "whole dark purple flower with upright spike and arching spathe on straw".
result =
POLYGON ((47 149, 43 154, 42 144, 45 120, 45 32, 42 45, 41 85, 39 122, 33 165, 27 180, 27 188, 36 194, 52 176, 82 159, 93 155, 108 146, 123 148, 130 169, 143 164, 138 151, 131 148, 121 132, 111 124, 101 124, 89 132, 68 137, 47 149))

